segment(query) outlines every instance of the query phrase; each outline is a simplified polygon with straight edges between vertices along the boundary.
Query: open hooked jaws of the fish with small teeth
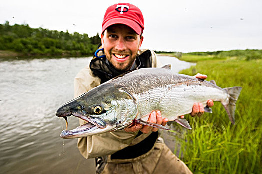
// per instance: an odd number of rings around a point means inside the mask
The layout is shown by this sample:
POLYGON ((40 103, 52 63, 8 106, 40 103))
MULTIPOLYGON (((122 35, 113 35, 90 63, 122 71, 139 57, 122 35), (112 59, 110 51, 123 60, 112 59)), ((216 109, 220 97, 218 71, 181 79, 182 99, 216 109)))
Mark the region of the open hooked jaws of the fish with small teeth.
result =
POLYGON ((103 132, 108 132, 110 130, 115 129, 116 127, 113 125, 107 125, 106 122, 101 118, 93 117, 87 113, 84 113, 83 111, 74 111, 74 112, 69 111, 59 115, 59 117, 63 117, 66 121, 66 129, 63 130, 60 134, 60 137, 64 139, 91 136, 103 132), (68 127, 67 117, 69 116, 75 116, 77 118, 80 118, 81 120, 84 120, 87 123, 80 125, 75 129, 67 130, 68 127))

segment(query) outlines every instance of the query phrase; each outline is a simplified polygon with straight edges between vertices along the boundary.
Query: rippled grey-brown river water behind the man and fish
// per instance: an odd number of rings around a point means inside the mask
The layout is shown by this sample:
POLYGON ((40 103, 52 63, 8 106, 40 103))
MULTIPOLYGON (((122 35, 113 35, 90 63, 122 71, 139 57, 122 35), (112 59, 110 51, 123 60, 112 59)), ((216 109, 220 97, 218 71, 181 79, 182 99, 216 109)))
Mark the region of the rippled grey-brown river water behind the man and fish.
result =
MULTIPOLYGON (((178 72, 191 63, 159 56, 178 72)), ((65 121, 55 111, 73 99, 73 80, 90 60, 41 58, 0 60, 0 173, 94 174, 76 139, 61 139, 65 121)), ((69 129, 78 126, 70 117, 69 129)))

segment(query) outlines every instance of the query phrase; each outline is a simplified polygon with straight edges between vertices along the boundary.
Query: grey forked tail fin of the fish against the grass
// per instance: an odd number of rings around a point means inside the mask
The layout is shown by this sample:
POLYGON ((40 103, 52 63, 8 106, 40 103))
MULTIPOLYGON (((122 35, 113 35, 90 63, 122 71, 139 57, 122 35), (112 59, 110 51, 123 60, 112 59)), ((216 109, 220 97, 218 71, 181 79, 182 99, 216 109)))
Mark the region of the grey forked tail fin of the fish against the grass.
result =
POLYGON ((230 121, 232 122, 232 124, 234 124, 235 123, 236 102, 238 100, 242 87, 227 87, 223 89, 226 90, 227 93, 229 94, 229 102, 222 103, 222 105, 224 106, 229 116, 230 121))

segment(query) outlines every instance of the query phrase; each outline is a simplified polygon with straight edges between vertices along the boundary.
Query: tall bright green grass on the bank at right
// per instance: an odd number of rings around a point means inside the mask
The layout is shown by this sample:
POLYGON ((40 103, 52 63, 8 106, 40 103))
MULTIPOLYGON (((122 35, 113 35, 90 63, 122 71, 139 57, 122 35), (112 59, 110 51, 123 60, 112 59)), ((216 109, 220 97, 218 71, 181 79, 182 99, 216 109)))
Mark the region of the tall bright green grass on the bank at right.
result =
POLYGON ((180 73, 208 75, 224 87, 241 86, 235 125, 219 102, 213 113, 200 118, 187 116, 193 130, 179 142, 182 160, 194 174, 261 174, 262 173, 262 59, 240 57, 183 55, 182 60, 197 62, 180 73))

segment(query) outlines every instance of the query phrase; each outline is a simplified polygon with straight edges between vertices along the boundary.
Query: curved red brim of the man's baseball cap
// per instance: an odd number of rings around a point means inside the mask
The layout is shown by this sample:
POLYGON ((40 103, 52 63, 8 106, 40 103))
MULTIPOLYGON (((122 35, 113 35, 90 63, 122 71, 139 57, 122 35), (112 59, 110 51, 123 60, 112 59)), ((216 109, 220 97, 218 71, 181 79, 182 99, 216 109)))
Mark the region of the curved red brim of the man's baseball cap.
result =
POLYGON ((103 27, 102 27, 102 33, 106 30, 106 28, 108 28, 109 26, 114 25, 114 24, 127 25, 130 28, 132 28, 138 35, 141 35, 141 33, 142 33, 142 28, 138 23, 136 23, 135 21, 133 21, 131 19, 127 19, 127 18, 123 18, 123 17, 113 18, 113 19, 110 19, 107 22, 105 22, 103 24, 103 27))

